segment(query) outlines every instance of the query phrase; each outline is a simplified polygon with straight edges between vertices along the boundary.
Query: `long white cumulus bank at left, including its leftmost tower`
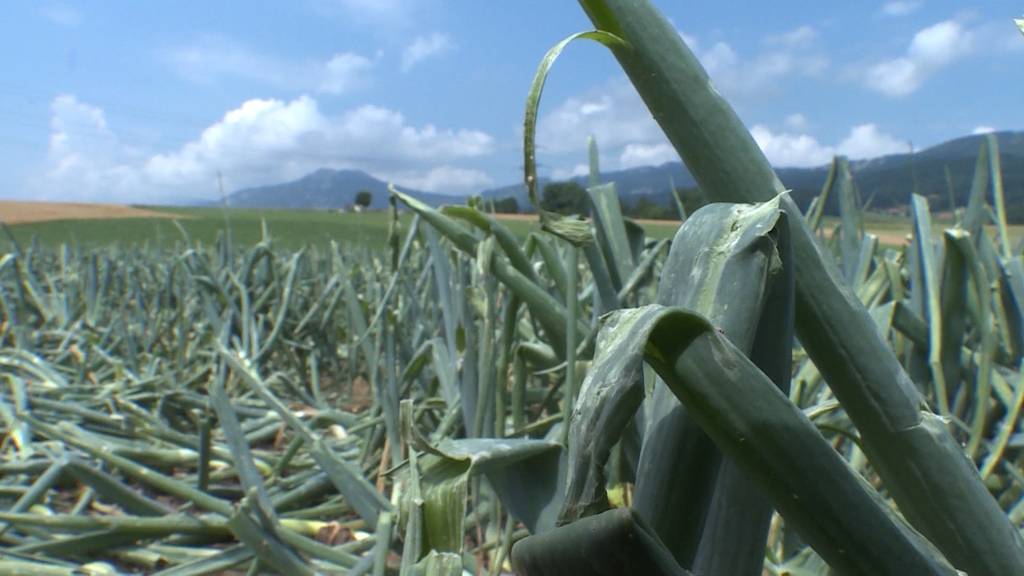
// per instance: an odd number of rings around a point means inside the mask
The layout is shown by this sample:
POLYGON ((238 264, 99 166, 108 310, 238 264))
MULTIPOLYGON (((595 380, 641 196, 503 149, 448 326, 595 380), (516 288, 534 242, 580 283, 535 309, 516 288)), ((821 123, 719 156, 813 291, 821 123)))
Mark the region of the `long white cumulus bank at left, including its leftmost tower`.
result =
POLYGON ((119 142, 100 109, 68 95, 53 101, 48 169, 36 188, 52 198, 194 198, 213 195, 218 172, 228 190, 237 190, 331 167, 462 193, 492 182, 457 164, 493 147, 484 132, 415 126, 377 106, 327 116, 312 97, 301 96, 247 100, 177 150, 142 154, 119 142))

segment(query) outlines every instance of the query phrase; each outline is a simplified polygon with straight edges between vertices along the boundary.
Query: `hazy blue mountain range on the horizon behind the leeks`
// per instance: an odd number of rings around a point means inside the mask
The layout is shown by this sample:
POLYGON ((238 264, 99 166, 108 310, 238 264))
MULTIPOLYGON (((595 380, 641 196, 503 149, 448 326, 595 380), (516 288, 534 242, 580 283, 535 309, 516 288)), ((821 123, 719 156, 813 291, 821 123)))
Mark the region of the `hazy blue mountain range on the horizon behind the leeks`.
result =
MULTIPOLYGON (((900 210, 907 205, 910 194, 916 189, 919 194, 929 197, 933 209, 946 210, 949 209, 950 183, 955 205, 966 204, 983 138, 981 135, 964 136, 913 154, 853 161, 850 167, 860 196, 870 209, 900 210)), ((1015 219, 1021 219, 1024 218, 1024 131, 997 132, 996 138, 1008 210, 1015 219)), ((794 200, 805 208, 820 192, 828 167, 781 167, 775 171, 783 184, 793 191, 794 200)), ((586 183, 585 176, 573 180, 586 183)), ((693 176, 680 162, 605 172, 601 174, 601 180, 615 182, 620 197, 628 205, 642 198, 669 205, 670 181, 678 189, 696 187, 693 176)), ((548 181, 542 178, 542 188, 548 181)), ((387 206, 387 184, 384 181, 360 170, 329 168, 289 182, 240 190, 230 194, 227 201, 238 207, 338 209, 351 206, 360 190, 372 193, 371 208, 387 206)), ((416 190, 408 192, 433 206, 462 203, 466 199, 464 196, 416 190)), ((520 209, 529 206, 521 183, 481 191, 480 195, 494 200, 513 197, 520 209)))

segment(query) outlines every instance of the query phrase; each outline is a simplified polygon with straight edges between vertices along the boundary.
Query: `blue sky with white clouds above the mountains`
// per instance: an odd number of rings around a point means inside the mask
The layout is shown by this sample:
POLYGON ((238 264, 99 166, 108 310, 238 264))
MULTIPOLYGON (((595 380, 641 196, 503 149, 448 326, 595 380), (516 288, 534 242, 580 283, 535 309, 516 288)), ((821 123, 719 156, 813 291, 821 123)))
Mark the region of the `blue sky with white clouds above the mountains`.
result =
MULTIPOLYGON (((1024 128, 1024 4, 654 2, 777 166, 1024 128)), ((571 1, 5 4, 0 198, 169 202, 356 168, 475 192, 520 180, 537 63, 571 1)), ((542 172, 675 160, 614 59, 570 46, 542 102, 542 172)))

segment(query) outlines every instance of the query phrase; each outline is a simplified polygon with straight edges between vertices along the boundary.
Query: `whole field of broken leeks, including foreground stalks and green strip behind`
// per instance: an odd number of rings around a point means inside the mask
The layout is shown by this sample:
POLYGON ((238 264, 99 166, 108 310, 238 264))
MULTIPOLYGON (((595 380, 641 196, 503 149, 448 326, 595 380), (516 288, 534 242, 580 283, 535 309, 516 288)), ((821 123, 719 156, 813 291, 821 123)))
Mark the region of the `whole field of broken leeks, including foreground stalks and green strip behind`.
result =
POLYGON ((681 223, 625 218, 591 139, 588 220, 393 191, 8 227, 0 573, 1021 573, 994 136, 952 214, 866 214, 842 157, 802 214, 672 24, 582 4, 530 202, 584 39, 714 201, 681 223))

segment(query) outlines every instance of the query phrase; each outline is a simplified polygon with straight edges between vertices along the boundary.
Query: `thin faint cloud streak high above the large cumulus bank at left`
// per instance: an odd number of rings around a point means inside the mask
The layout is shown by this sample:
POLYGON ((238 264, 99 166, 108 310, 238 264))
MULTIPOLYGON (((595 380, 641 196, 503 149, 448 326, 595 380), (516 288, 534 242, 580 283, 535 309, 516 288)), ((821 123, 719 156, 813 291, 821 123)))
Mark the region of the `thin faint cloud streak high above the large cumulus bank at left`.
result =
POLYGON ((328 94, 348 92, 365 83, 374 61, 354 52, 339 52, 326 61, 288 60, 255 52, 218 36, 162 54, 183 78, 197 83, 250 80, 284 90, 328 94))

